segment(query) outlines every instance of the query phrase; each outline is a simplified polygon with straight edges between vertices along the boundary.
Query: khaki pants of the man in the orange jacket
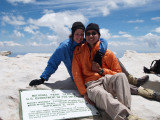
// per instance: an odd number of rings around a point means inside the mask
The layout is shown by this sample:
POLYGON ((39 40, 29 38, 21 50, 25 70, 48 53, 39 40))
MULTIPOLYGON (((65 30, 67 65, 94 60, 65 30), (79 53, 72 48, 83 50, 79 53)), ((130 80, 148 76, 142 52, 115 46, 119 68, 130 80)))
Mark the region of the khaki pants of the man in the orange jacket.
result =
POLYGON ((88 97, 113 120, 125 120, 131 114, 130 86, 124 73, 105 75, 86 86, 88 97))

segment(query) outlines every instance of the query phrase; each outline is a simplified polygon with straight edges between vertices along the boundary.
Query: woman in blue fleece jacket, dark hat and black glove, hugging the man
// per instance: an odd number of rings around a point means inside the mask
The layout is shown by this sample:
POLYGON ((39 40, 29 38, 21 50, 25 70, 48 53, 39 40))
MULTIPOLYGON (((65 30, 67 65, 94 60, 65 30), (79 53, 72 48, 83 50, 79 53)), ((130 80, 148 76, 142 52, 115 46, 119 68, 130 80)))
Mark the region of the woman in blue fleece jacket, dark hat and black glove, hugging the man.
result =
MULTIPOLYGON (((40 84, 43 84, 44 81, 48 81, 49 77, 53 73, 55 73, 55 71, 57 70, 58 66, 62 61, 64 62, 68 70, 68 73, 73 80, 73 76, 72 76, 73 52, 77 45, 85 42, 85 39, 84 39, 85 27, 81 22, 75 22, 73 23, 71 30, 72 30, 72 34, 69 36, 69 39, 60 43, 59 47, 55 50, 55 52, 50 57, 47 67, 45 68, 44 72, 40 76, 41 79, 32 80, 29 83, 30 86, 40 85, 40 84)), ((101 45, 100 45, 99 51, 104 53, 107 49, 108 43, 104 39, 100 39, 100 40, 101 40, 101 45)))

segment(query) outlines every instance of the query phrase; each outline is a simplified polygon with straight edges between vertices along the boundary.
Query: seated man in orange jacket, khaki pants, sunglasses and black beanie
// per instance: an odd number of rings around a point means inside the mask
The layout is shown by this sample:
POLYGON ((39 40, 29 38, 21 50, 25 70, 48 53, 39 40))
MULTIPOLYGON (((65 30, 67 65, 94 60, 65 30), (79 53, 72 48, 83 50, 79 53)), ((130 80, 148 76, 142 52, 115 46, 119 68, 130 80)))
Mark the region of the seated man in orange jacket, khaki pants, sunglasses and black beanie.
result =
POLYGON ((72 60, 73 79, 79 93, 113 120, 142 120, 130 111, 130 86, 113 52, 109 49, 105 52, 102 67, 93 61, 100 45, 99 26, 89 24, 85 35, 87 42, 76 47, 72 60))

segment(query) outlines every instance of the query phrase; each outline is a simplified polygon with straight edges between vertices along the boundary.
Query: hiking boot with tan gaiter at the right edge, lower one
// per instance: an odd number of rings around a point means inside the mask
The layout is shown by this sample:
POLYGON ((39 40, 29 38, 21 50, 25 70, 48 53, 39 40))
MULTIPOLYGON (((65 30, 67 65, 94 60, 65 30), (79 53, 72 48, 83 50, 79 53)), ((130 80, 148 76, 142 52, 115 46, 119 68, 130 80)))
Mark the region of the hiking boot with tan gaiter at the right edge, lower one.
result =
POLYGON ((139 87, 138 94, 149 99, 160 101, 160 93, 148 88, 139 87))

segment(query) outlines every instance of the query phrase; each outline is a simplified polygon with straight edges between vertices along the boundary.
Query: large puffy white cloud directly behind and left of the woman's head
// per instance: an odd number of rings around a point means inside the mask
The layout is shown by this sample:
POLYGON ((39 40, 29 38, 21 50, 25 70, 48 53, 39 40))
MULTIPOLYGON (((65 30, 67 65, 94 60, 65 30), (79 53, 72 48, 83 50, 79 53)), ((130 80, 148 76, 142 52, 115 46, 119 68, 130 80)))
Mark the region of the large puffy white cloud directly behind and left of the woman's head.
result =
POLYGON ((68 38, 70 28, 75 21, 87 23, 88 19, 82 14, 72 12, 47 13, 39 19, 29 19, 29 23, 39 27, 48 27, 53 30, 59 42, 68 38))

